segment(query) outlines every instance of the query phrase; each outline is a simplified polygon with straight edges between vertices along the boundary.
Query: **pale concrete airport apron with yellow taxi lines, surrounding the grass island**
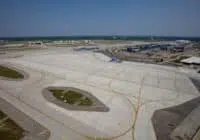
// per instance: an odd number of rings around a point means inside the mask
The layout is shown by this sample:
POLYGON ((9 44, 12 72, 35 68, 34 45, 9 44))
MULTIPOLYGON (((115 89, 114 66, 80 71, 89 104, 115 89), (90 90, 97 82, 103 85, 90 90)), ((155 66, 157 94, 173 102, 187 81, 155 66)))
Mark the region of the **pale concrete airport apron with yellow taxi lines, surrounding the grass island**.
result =
POLYGON ((199 96, 188 71, 185 74, 172 67, 109 60, 99 53, 63 48, 2 57, 0 64, 24 70, 29 78, 0 80, 0 96, 48 128, 51 140, 155 140, 153 112, 199 96), (86 90, 110 111, 65 110, 44 99, 41 92, 48 86, 86 90))

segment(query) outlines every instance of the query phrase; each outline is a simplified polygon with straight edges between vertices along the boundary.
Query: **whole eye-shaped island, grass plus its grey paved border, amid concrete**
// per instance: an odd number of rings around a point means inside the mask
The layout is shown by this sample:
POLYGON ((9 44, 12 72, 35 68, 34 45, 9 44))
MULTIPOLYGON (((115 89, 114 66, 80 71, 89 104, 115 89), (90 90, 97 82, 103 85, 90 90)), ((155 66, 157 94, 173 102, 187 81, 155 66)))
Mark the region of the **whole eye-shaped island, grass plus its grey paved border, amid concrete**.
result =
POLYGON ((47 87, 43 96, 49 102, 74 111, 108 112, 109 108, 93 94, 74 87, 47 87))

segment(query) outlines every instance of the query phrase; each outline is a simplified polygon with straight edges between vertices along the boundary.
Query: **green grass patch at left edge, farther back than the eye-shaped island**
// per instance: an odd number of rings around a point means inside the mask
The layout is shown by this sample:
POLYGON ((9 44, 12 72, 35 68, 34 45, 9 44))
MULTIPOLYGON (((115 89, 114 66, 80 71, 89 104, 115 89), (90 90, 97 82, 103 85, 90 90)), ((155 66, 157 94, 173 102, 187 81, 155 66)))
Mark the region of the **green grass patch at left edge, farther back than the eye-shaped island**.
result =
POLYGON ((13 79, 24 78, 24 76, 21 73, 15 71, 15 70, 12 70, 10 68, 1 66, 1 65, 0 65, 0 76, 7 77, 7 78, 13 78, 13 79))

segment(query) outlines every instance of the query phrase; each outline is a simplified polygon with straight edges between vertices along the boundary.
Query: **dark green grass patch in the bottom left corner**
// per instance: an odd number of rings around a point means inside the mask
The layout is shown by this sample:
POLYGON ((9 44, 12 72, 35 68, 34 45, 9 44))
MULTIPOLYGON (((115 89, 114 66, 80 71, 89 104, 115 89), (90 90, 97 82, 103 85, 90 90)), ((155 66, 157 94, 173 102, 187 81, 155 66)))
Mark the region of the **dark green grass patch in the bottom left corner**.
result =
POLYGON ((23 137, 24 130, 0 111, 0 139, 20 140, 23 137))

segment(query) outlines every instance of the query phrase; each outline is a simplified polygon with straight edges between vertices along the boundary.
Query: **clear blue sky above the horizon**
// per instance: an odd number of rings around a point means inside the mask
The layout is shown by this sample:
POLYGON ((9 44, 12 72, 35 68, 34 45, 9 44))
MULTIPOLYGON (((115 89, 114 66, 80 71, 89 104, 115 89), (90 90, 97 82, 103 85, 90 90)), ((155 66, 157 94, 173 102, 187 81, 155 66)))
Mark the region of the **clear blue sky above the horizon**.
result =
POLYGON ((0 37, 200 37, 200 0, 0 0, 0 37))

